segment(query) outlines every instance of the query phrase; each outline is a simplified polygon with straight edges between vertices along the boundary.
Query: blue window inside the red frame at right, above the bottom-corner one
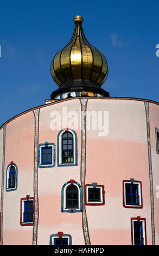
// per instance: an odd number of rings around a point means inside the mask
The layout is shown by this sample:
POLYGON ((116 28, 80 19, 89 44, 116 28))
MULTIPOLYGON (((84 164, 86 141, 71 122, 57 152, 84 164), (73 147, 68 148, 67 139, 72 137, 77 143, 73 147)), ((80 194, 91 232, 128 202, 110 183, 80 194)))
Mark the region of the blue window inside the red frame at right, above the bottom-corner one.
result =
POLYGON ((139 205, 138 184, 125 184, 126 205, 139 205))

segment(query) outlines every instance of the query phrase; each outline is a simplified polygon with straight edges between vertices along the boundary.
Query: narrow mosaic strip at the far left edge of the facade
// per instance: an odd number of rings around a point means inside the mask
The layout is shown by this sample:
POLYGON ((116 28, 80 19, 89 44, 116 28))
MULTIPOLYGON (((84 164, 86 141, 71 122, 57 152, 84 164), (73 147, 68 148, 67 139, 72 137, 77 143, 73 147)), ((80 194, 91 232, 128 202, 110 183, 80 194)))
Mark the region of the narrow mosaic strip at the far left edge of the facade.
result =
POLYGON ((4 162, 5 162, 5 131, 6 125, 3 126, 3 158, 2 158, 2 185, 1 185, 1 245, 3 245, 3 191, 4 191, 4 162))

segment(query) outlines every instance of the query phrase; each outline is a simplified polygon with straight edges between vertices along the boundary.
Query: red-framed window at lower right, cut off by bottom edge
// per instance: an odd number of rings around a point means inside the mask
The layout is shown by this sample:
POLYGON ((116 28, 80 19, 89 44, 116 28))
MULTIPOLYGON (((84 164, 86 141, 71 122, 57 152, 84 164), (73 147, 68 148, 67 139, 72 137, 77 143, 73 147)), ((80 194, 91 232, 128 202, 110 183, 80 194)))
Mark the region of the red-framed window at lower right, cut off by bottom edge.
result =
POLYGON ((131 218, 132 245, 147 245, 146 220, 138 216, 131 218))

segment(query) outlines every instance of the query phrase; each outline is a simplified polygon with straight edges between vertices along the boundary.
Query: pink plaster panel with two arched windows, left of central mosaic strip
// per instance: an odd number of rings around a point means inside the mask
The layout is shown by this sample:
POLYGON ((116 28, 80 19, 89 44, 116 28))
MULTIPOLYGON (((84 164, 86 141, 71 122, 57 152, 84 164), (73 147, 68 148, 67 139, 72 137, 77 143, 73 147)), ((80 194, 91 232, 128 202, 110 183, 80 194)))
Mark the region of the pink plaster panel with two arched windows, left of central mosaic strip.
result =
MULTIPOLYGON (((57 138, 58 133, 63 128, 72 128, 69 123, 62 125, 58 130, 50 129, 50 123, 53 118, 50 114, 58 111, 62 117, 62 107, 67 107, 67 113, 70 111, 81 110, 79 100, 61 102, 55 105, 40 109, 39 123, 39 144, 44 142, 55 143, 56 145, 56 164, 53 168, 39 168, 38 170, 38 194, 39 194, 39 224, 37 234, 37 245, 48 245, 49 237, 62 231, 64 234, 72 236, 73 245, 85 245, 84 234, 82 231, 82 212, 70 214, 61 212, 61 190, 62 186, 73 179, 81 185, 80 180, 80 155, 81 155, 81 130, 79 129, 79 116, 75 119, 78 124, 78 166, 57 166, 57 138)), ((62 119, 62 118, 61 118, 62 119)), ((69 121, 70 118, 68 118, 69 121)))

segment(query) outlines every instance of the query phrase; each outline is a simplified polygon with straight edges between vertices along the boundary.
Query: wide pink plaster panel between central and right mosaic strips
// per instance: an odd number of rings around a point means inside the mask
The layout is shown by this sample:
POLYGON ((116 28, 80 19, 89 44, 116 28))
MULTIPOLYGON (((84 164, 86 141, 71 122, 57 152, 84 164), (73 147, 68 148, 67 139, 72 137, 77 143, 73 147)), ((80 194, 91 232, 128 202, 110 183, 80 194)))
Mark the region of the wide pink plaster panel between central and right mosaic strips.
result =
POLYGON ((147 219, 148 244, 151 244, 151 208, 147 124, 143 102, 131 100, 89 100, 87 111, 109 111, 109 135, 86 133, 85 184, 105 186, 105 205, 86 206, 92 245, 131 245, 131 217, 147 219), (143 209, 123 207, 123 180, 142 181, 143 209), (99 230, 100 229, 100 230, 99 230), (96 233, 97 230, 99 234, 96 233), (123 235, 121 235, 123 234, 123 235), (124 235, 125 234, 125 235, 124 235), (129 234, 129 235, 128 235, 129 234), (128 236, 127 236, 128 235, 128 236), (115 237, 112 242, 112 237, 115 237), (125 238, 126 237, 126 238, 125 238))

